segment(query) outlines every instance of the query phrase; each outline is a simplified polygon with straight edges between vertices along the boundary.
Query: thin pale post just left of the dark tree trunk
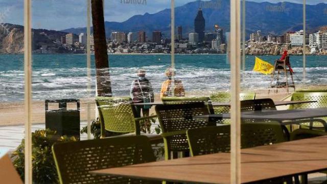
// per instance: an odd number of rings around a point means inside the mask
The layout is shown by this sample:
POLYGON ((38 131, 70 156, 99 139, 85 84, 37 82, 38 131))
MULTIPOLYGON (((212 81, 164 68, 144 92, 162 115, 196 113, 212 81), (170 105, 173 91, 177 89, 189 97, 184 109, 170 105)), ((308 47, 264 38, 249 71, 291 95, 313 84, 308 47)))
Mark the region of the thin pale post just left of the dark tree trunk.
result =
MULTIPOLYGON (((86 70, 87 70, 87 98, 91 94, 91 46, 90 46, 90 35, 91 35, 91 1, 86 0, 87 4, 87 15, 86 15, 86 70)), ((91 139, 91 104, 87 101, 87 139, 91 139)))

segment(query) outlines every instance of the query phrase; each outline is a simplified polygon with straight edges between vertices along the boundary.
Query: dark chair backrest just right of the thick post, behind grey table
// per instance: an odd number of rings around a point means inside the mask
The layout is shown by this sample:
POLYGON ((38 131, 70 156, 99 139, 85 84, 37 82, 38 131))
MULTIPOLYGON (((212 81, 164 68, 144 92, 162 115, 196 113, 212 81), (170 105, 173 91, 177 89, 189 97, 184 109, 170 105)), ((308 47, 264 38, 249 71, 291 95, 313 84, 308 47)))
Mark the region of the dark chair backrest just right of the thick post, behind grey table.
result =
POLYGON ((241 111, 276 110, 272 99, 255 99, 241 101, 241 111))

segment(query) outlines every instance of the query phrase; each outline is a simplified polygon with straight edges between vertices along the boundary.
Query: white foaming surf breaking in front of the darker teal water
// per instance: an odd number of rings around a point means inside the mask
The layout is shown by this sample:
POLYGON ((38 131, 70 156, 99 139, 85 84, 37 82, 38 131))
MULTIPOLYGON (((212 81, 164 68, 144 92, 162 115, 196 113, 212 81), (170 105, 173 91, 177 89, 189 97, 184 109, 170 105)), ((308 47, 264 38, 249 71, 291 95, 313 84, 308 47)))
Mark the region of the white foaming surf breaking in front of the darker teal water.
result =
MULTIPOLYGON (((147 77, 151 81, 155 93, 159 93, 161 83, 167 79, 165 70, 168 65, 144 66, 147 77)), ((113 94, 129 95, 130 84, 137 78, 139 67, 111 67, 111 83, 113 94)), ((302 78, 302 67, 294 67, 296 82, 302 78)), ((306 83, 325 84, 327 67, 308 67, 306 83)), ((41 68, 33 71, 33 99, 49 98, 85 98, 87 96, 87 68, 41 68)), ((209 68, 192 65, 179 65, 176 77, 181 79, 186 91, 191 90, 227 90, 230 87, 229 68, 209 68)), ((92 93, 95 95, 95 69, 91 69, 92 93)), ((270 76, 252 72, 242 72, 241 85, 247 89, 268 87, 270 76)), ((0 101, 24 99, 24 71, 0 71, 0 101), (19 95, 17 95, 19 94, 19 95)))

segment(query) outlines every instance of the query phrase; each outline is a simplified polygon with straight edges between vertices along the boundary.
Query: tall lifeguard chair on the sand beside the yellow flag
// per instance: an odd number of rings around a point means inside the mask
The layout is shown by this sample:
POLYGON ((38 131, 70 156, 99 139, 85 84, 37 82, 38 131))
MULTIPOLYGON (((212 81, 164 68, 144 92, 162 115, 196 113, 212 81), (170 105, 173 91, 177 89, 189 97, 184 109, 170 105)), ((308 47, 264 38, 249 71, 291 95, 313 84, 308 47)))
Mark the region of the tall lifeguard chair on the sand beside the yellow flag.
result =
POLYGON ((293 80, 293 71, 291 68, 290 57, 287 56, 284 61, 275 60, 274 70, 272 72, 268 94, 270 93, 270 90, 273 88, 275 89, 275 93, 278 93, 278 88, 286 88, 287 93, 289 94, 288 88, 290 87, 293 88, 295 91, 295 84, 293 80), (276 72, 277 74, 275 75, 276 72), (285 82, 279 81, 279 78, 281 77, 281 73, 284 73, 285 82), (291 83, 288 82, 289 76, 291 77, 291 83))

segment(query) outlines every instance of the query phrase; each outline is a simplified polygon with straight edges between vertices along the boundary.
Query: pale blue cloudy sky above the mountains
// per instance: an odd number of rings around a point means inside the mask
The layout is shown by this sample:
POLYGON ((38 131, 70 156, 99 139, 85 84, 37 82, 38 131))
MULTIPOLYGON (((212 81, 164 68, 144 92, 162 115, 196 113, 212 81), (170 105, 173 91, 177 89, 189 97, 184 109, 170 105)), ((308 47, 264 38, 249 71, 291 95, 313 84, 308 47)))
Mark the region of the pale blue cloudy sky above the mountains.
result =
MULTIPOLYGON (((139 0, 146 5, 124 4, 124 0, 105 0, 105 20, 124 21, 136 14, 155 13, 170 8, 170 0, 139 0)), ((127 0, 129 1, 129 0, 127 0)), ((181 6, 195 0, 175 0, 181 6)), ((207 1, 207 0, 206 0, 207 1)), ((253 2, 283 2, 285 0, 250 0, 253 2)), ((302 0, 287 0, 302 3, 302 0)), ((327 0, 307 0, 307 4, 327 3, 327 0)), ((0 22, 23 24, 24 0, 0 0, 0 22)), ((86 0, 32 0, 33 28, 62 30, 85 27, 86 0)))

